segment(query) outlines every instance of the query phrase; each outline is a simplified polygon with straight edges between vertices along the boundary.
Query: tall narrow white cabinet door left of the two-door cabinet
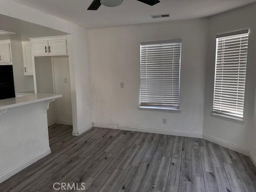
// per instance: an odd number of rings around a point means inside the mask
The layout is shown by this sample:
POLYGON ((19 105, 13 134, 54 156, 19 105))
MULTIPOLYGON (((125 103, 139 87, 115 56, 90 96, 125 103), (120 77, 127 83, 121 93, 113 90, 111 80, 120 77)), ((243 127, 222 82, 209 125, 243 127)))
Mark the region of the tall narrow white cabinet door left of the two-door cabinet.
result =
POLYGON ((32 45, 30 43, 23 44, 22 50, 23 50, 24 73, 25 75, 33 75, 32 45))

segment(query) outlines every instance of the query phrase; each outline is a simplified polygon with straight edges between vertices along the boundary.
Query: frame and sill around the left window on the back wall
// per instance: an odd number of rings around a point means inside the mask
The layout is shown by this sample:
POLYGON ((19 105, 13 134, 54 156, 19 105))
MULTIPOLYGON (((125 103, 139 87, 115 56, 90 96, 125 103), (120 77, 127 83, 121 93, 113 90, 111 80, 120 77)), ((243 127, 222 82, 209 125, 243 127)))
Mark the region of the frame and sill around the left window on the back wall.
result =
POLYGON ((182 53, 182 39, 172 39, 172 40, 160 40, 160 41, 150 41, 150 42, 141 42, 140 43, 140 95, 139 95, 139 109, 140 110, 163 110, 166 112, 180 112, 180 74, 181 74, 181 53, 182 53), (154 44, 164 44, 164 43, 180 43, 180 60, 179 60, 179 95, 178 95, 178 107, 175 108, 173 106, 143 106, 141 105, 141 46, 143 45, 154 45, 154 44))

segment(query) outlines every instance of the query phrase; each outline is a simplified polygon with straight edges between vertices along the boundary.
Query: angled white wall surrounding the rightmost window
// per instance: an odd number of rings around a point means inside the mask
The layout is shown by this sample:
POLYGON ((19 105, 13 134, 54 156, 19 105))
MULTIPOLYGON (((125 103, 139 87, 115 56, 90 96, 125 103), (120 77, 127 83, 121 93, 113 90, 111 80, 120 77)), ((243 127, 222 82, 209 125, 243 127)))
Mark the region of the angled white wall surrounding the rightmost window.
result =
MULTIPOLYGON (((256 4, 219 14, 209 19, 208 59, 206 62, 206 84, 204 102, 204 134, 210 135, 249 150, 252 119, 254 114, 255 72, 256 72, 256 4), (214 68, 216 34, 250 29, 248 45, 248 62, 244 104, 244 124, 215 118, 212 111, 214 93, 214 68)), ((255 138, 254 138, 255 140, 255 138)))

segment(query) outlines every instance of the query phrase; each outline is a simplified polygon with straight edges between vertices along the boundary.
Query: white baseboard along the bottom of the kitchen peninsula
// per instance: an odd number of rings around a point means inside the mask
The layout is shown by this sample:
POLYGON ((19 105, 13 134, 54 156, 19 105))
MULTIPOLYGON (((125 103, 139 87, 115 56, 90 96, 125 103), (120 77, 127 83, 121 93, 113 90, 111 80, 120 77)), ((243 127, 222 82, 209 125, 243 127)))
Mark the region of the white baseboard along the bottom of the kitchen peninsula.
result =
POLYGON ((0 175, 0 183, 51 153, 50 147, 0 175))

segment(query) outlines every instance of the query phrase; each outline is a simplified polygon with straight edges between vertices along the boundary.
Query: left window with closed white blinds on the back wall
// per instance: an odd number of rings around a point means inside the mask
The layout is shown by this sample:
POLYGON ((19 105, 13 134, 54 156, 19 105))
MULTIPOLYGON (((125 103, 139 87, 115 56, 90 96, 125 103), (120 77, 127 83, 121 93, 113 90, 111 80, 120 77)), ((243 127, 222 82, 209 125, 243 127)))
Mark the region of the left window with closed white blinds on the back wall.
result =
POLYGON ((181 40, 140 44, 140 106, 179 109, 181 40))

